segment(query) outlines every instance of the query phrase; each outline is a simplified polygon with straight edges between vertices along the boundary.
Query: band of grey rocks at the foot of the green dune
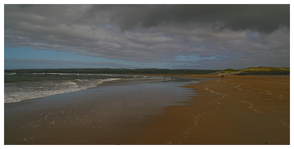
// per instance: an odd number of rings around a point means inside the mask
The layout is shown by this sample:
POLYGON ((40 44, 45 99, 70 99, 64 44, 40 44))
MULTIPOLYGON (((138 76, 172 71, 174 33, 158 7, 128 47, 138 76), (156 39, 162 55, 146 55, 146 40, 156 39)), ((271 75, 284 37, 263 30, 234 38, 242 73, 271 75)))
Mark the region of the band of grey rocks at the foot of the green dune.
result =
POLYGON ((209 73, 208 75, 236 75, 236 76, 290 76, 289 72, 240 72, 240 73, 209 73))

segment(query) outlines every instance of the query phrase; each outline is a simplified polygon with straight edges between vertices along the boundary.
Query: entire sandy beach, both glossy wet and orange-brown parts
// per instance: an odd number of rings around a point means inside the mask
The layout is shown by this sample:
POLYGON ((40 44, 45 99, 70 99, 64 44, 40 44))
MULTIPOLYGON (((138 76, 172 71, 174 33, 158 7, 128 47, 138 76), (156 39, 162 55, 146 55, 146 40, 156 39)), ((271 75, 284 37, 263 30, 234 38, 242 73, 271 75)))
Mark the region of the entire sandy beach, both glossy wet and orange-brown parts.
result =
POLYGON ((5 104, 4 144, 290 144, 290 76, 184 76, 214 79, 179 84, 185 92, 105 83, 5 104), (169 102, 181 93, 189 101, 169 102))

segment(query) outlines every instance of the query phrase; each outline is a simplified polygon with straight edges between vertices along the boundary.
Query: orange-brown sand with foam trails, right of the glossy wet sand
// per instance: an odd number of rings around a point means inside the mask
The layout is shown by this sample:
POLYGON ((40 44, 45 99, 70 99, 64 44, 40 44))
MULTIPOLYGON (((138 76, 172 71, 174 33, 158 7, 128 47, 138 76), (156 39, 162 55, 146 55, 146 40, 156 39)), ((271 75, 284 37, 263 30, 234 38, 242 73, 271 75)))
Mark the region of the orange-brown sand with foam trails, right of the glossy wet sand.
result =
POLYGON ((290 145, 290 76, 216 78, 187 86, 199 95, 167 107, 126 144, 290 145))

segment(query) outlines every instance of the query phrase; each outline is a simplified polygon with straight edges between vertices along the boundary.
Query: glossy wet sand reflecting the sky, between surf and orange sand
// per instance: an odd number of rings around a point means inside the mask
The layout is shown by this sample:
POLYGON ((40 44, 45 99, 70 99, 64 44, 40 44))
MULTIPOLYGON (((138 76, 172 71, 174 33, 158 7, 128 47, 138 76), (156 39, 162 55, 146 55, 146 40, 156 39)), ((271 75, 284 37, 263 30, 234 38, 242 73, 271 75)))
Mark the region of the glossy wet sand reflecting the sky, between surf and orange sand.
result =
MULTIPOLYGON (((185 83, 181 83, 185 84, 185 83)), ((113 82, 4 104, 4 144, 123 144, 194 91, 173 82, 113 82)))

